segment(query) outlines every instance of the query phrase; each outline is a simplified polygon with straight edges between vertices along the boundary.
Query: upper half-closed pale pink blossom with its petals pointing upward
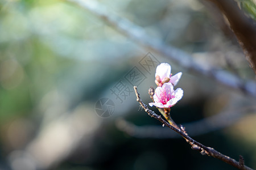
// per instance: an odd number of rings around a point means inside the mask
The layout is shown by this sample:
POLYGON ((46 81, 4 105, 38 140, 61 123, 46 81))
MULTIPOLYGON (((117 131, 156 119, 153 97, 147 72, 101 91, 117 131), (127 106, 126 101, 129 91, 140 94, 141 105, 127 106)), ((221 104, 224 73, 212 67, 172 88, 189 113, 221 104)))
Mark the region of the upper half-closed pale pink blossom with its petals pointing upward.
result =
POLYGON ((170 82, 175 86, 179 82, 181 75, 182 73, 180 72, 172 76, 171 66, 168 63, 160 63, 155 71, 156 84, 162 86, 164 83, 170 82))

